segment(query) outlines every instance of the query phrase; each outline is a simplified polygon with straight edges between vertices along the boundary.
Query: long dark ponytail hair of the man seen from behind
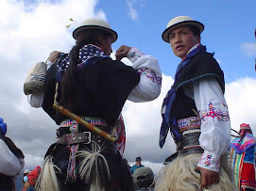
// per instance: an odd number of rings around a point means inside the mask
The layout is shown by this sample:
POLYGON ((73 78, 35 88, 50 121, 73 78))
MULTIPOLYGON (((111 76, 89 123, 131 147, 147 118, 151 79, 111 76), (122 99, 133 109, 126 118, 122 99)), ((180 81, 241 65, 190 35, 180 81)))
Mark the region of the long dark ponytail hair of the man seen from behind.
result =
POLYGON ((73 46, 69 53, 70 64, 63 74, 60 82, 60 103, 67 103, 69 109, 73 108, 75 100, 77 99, 77 61, 79 50, 85 44, 100 45, 98 37, 101 36, 104 40, 111 36, 111 33, 100 29, 85 29, 77 34, 76 45, 73 46))

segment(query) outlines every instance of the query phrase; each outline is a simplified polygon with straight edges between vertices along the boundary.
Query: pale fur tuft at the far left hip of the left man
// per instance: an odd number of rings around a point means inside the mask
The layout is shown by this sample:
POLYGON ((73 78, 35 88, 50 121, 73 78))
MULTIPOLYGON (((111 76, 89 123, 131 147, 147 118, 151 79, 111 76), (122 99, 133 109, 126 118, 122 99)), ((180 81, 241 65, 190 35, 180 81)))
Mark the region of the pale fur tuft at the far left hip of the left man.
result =
POLYGON ((60 168, 53 165, 53 157, 48 155, 44 160, 42 173, 36 183, 37 191, 60 191, 55 169, 60 173, 60 168))

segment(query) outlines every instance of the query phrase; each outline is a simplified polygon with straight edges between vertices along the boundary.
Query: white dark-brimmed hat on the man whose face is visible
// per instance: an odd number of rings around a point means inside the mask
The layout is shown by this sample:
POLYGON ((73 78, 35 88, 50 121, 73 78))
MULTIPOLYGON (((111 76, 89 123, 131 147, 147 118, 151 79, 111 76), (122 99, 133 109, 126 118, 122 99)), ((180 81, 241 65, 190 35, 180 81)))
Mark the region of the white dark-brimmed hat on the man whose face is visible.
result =
POLYGON ((204 29, 204 25, 200 22, 196 22, 194 19, 188 16, 179 16, 173 18, 168 24, 166 29, 162 33, 162 40, 169 42, 169 34, 175 28, 182 26, 182 25, 195 25, 198 27, 200 34, 204 29))

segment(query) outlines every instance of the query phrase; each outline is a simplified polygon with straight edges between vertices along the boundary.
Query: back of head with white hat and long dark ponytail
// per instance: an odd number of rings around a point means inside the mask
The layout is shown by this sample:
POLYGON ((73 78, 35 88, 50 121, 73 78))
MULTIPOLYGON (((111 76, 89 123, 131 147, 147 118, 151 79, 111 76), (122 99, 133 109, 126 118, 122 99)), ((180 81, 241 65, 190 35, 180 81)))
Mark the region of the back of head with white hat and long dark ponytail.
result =
POLYGON ((69 53, 70 64, 64 73, 60 84, 60 104, 72 110, 77 100, 77 63, 79 61, 79 51, 86 44, 93 44, 102 48, 101 40, 111 37, 112 42, 117 40, 117 33, 111 29, 111 25, 101 19, 91 18, 83 21, 73 31, 73 37, 77 40, 75 46, 69 53))

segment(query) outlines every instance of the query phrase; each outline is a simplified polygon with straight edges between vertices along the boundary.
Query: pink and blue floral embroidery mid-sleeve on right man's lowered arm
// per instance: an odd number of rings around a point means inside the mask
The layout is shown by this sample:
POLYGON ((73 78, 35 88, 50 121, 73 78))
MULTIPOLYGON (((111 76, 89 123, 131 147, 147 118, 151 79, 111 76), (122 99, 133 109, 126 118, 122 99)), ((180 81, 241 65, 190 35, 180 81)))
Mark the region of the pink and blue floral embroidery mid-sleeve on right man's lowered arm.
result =
POLYGON ((230 120, 230 115, 227 111, 220 111, 220 110, 216 110, 213 107, 213 103, 209 103, 208 104, 208 110, 203 110, 203 111, 199 111, 198 112, 201 120, 202 121, 206 121, 209 118, 217 118, 219 120, 223 120, 223 121, 229 121, 230 120))

